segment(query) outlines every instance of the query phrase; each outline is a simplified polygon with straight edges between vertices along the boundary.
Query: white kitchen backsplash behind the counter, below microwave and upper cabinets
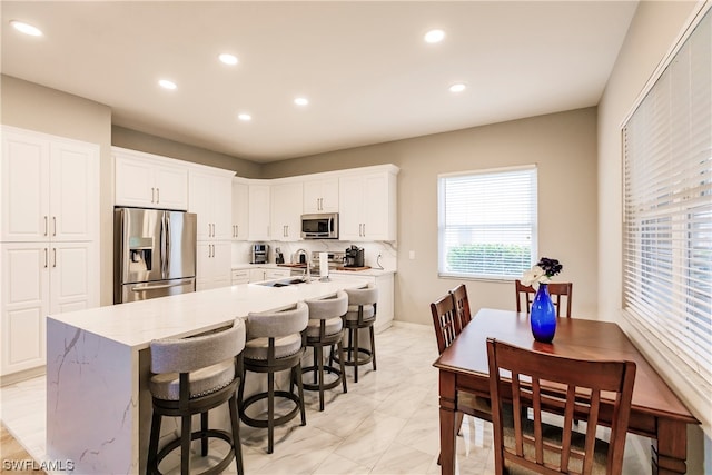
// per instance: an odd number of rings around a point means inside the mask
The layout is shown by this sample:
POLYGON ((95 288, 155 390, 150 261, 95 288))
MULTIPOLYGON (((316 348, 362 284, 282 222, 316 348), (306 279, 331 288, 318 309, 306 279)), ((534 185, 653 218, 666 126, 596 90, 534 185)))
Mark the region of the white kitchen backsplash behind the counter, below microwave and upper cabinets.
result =
MULTIPOLYGON (((253 245, 251 241, 233 243, 233 265, 249 264, 253 245)), ((343 253, 352 245, 363 247, 365 255, 365 265, 372 268, 383 266, 386 270, 396 270, 397 249, 388 243, 352 243, 345 240, 301 240, 294 243, 265 241, 269 245, 269 263, 275 263, 275 248, 279 248, 285 257, 285 263, 295 260, 295 253, 304 249, 312 254, 313 251, 339 251, 343 253), (380 255, 380 259, 378 256, 380 255), (380 264, 380 266, 379 266, 380 264)))

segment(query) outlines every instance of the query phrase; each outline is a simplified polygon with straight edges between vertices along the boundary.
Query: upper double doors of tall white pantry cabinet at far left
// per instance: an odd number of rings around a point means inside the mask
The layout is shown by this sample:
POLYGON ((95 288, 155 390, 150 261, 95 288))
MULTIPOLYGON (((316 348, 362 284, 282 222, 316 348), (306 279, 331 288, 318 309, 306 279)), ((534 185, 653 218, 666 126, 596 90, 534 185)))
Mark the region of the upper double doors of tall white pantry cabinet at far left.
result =
POLYGON ((2 241, 98 235, 99 146, 2 128, 2 241))

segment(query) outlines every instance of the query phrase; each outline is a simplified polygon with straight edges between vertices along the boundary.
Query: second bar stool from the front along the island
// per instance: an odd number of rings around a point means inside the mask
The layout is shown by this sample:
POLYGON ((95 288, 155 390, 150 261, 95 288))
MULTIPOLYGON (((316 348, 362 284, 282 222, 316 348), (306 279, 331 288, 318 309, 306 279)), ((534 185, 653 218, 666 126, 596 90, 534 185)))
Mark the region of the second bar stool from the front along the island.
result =
POLYGON ((267 427, 267 453, 274 452, 275 426, 286 424, 301 413, 301 425, 306 425, 304 387, 301 385, 301 357, 305 353, 306 328, 309 307, 304 301, 279 311, 250 313, 247 316, 247 343, 244 352, 244 374, 238 393, 239 413, 243 422, 253 427, 267 427), (275 373, 290 370, 289 390, 275 390, 275 373), (267 392, 244 399, 247 372, 267 373, 267 392), (298 393, 294 393, 294 385, 298 393), (275 398, 294 402, 294 408, 275 417, 275 398), (255 403, 267 399, 267 417, 247 415, 255 403))

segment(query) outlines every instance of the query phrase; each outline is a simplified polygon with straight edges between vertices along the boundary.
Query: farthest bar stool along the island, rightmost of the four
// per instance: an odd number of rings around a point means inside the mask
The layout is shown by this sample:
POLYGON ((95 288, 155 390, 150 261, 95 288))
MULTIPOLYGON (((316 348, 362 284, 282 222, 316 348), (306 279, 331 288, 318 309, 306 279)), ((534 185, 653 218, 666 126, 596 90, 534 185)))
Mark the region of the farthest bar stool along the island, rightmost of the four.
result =
MULTIPOLYGON (((348 346, 344 348, 347 366, 354 367, 354 383, 358 383, 358 366, 373 363, 376 370, 376 339, 374 335, 374 324, 376 323, 376 303, 378 301, 378 289, 368 284, 364 288, 345 289, 348 295, 348 311, 344 316, 344 327, 348 331, 348 346), (362 328, 368 328, 370 335, 370 349, 358 345, 358 333, 362 328), (354 357, 352 358, 352 353, 354 357), (366 355, 362 358, 360 355, 366 355)), ((332 352, 332 359, 338 357, 332 352)))

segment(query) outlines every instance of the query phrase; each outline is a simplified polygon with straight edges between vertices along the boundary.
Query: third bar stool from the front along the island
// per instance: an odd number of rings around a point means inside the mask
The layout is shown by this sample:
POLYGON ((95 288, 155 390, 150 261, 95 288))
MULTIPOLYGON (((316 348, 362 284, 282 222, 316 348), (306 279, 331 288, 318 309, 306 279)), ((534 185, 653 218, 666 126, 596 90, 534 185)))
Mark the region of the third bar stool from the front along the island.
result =
POLYGON ((319 410, 324 410, 324 390, 333 389, 340 383, 346 388, 346 369, 344 366, 344 347, 342 345, 344 321, 342 317, 348 310, 348 295, 339 290, 326 298, 305 300, 309 307, 307 325, 307 346, 314 348, 314 365, 301 369, 301 373, 314 373, 314 384, 304 383, 305 389, 319 392, 319 410), (339 368, 324 365, 324 347, 336 345, 339 355, 339 368), (336 379, 325 383, 324 372, 336 375, 336 379))

